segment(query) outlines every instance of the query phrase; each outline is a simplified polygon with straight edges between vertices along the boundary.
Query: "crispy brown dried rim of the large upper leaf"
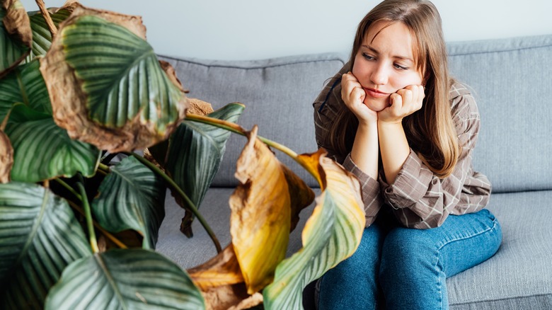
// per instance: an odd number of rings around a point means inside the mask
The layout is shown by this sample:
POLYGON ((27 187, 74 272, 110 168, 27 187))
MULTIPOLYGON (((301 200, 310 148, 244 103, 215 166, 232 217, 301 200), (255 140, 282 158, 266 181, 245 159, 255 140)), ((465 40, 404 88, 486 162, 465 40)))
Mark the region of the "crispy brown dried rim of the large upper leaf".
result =
MULTIPOLYGON (((122 25, 140 38, 144 40, 146 38, 146 28, 142 24, 142 17, 85 8, 80 4, 76 4, 71 16, 60 24, 59 32, 61 33, 62 28, 71 25, 77 18, 85 15, 97 16, 111 23, 122 25)), ((81 85, 83 82, 76 76, 74 69, 65 62, 62 37, 62 35, 57 35, 46 56, 40 59, 40 71, 50 93, 54 120, 59 127, 67 130, 69 137, 116 153, 150 147, 167 139, 176 129, 178 122, 168 124, 164 134, 160 135, 154 129, 154 124, 141 121, 140 113, 117 130, 103 127, 89 120, 86 108, 87 95, 81 85)), ((169 80, 182 89, 176 76, 173 76, 174 70, 171 65, 165 64, 163 69, 168 74, 169 80)), ((188 99, 183 95, 182 101, 177 106, 179 120, 185 118, 187 107, 188 99)))

